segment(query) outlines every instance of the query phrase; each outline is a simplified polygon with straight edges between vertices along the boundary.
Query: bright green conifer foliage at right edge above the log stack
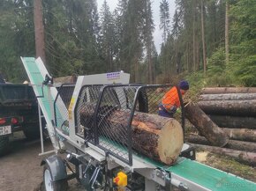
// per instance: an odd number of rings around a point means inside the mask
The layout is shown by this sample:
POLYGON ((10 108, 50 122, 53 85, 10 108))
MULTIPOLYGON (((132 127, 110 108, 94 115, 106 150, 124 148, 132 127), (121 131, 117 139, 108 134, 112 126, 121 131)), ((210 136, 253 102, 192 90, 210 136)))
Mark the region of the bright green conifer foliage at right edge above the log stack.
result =
POLYGON ((240 84, 256 86, 256 2, 240 0, 230 9, 232 76, 240 84))

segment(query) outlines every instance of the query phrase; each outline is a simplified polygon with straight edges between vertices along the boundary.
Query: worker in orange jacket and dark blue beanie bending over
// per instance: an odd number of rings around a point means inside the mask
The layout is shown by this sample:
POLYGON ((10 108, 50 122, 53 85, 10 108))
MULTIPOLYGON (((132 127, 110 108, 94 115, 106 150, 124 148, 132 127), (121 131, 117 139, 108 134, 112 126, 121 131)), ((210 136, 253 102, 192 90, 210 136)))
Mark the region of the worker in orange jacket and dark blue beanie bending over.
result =
MULTIPOLYGON (((189 83, 182 80, 178 84, 178 88, 183 96, 189 90, 189 83)), ((180 99, 177 91, 177 86, 174 86, 164 94, 161 103, 158 105, 158 114, 160 116, 173 118, 177 108, 180 107, 180 99)))

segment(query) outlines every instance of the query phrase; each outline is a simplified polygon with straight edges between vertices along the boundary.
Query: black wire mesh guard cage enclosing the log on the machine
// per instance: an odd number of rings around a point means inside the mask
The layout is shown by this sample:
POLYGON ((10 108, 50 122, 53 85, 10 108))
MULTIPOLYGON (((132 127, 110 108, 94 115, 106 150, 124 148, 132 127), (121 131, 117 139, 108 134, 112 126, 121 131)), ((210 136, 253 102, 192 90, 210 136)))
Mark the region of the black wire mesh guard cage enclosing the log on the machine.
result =
MULTIPOLYGON (((170 88, 171 85, 84 86, 75 109, 77 134, 131 165, 133 116, 158 114, 162 97, 170 88)), ((178 96, 182 100, 180 93, 178 96)))

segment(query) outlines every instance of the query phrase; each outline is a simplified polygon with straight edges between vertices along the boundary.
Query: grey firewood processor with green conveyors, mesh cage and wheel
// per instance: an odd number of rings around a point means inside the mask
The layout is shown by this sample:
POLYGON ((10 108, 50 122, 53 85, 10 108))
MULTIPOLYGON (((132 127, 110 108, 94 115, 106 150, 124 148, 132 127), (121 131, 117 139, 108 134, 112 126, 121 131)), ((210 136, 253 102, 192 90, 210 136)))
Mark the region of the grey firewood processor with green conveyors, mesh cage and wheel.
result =
MULTIPOLYGON (((136 150, 134 145, 146 142, 134 141, 134 119, 156 114, 161 99, 156 90, 169 85, 129 84, 130 76, 123 71, 80 76, 76 84, 56 85, 40 58, 21 60, 54 147, 41 152, 54 152, 41 162, 47 191, 67 190, 73 178, 89 191, 256 190, 252 181, 192 160, 194 151, 187 144, 171 165, 149 158, 151 148, 144 153, 136 150)), ((180 122, 184 123, 184 114, 180 122)))

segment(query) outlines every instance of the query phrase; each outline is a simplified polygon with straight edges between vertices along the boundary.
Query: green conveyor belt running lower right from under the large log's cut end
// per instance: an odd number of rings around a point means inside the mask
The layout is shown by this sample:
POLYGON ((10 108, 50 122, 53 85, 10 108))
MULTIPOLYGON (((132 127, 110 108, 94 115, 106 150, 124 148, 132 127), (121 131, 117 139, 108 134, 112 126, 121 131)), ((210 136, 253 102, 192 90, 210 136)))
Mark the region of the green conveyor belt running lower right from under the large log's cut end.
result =
POLYGON ((186 180, 191 180, 210 190, 256 191, 256 183, 250 180, 242 179, 234 174, 223 172, 188 158, 178 158, 176 165, 166 166, 150 158, 139 155, 135 155, 134 157, 146 160, 151 165, 155 165, 169 173, 175 173, 186 180))

